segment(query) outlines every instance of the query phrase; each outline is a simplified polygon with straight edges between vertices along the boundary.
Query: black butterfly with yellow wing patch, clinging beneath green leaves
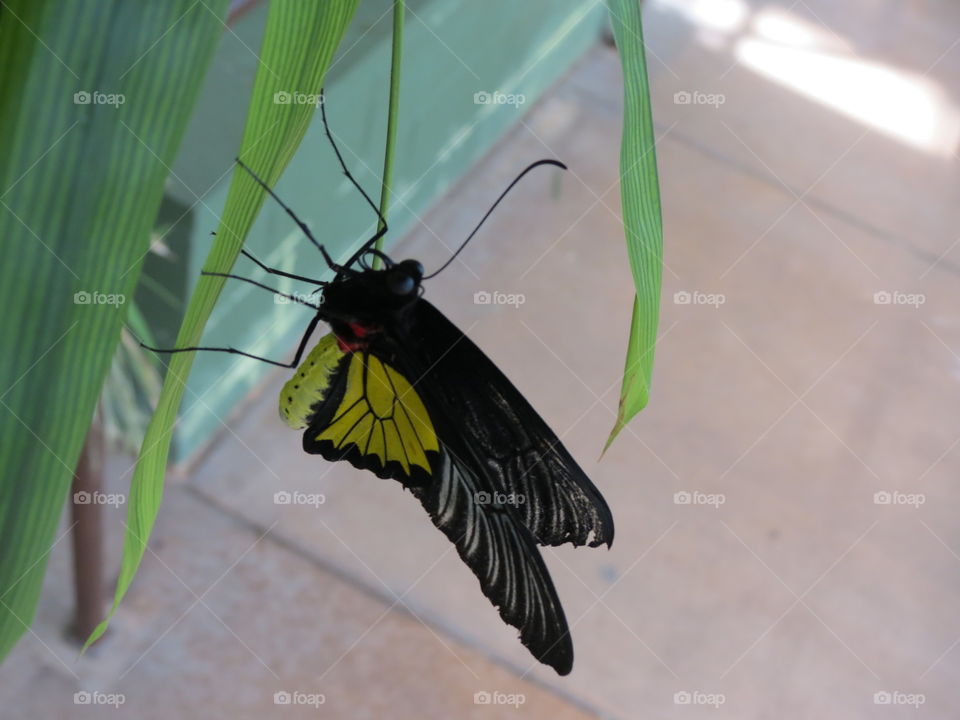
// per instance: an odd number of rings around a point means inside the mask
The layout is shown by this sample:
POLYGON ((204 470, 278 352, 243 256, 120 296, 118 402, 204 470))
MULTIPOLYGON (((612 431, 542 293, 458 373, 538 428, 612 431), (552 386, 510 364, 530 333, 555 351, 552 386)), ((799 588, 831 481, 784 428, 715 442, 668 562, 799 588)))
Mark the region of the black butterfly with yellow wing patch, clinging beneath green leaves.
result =
MULTIPOLYGON (((524 175, 541 165, 565 166, 556 160, 528 166, 449 260, 425 275, 420 262, 396 262, 375 247, 387 232, 386 221, 350 174, 322 103, 321 113, 343 172, 379 217, 377 233, 347 262, 334 262, 296 214, 237 159, 336 273, 330 281, 315 280, 268 267, 242 251, 266 272, 312 283, 322 292, 316 302, 277 293, 316 311, 294 360, 279 362, 235 348, 150 349, 228 352, 295 368, 280 393, 280 415, 303 431, 303 449, 409 490, 531 654, 566 675, 573 667, 573 643, 538 546, 609 547, 612 514, 523 394, 424 297, 424 281, 453 261, 524 175), (377 261, 382 267, 375 267, 377 261), (330 332, 304 357, 321 322, 330 332)), ((249 278, 223 275, 277 292, 249 278)))

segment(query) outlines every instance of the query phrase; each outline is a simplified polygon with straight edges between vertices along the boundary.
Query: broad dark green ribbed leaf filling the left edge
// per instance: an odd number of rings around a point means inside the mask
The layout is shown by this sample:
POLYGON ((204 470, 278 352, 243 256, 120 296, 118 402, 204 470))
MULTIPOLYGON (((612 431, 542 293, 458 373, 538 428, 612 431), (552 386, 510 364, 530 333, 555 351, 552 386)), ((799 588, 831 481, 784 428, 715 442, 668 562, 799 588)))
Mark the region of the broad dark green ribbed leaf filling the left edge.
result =
POLYGON ((0 658, 33 620, 226 5, 0 6, 0 658))

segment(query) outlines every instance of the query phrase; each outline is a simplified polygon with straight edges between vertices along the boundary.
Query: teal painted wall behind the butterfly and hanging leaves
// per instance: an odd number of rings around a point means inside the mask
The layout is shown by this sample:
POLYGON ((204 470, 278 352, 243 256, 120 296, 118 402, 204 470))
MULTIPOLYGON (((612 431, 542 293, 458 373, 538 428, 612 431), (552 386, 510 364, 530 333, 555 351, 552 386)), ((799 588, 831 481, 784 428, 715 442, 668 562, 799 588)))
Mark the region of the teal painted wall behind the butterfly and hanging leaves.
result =
MULTIPOLYGON (((355 176, 379 197, 390 63, 390 3, 365 0, 327 81, 327 110, 355 176)), ((408 0, 390 238, 400 237, 459 180, 526 112, 538 97, 596 42, 605 13, 596 0, 408 0), (525 103, 477 103, 476 93, 524 95, 525 103)), ((191 208, 177 233, 169 270, 149 272, 155 281, 138 297, 167 308, 161 325, 174 330, 182 306, 158 287, 192 287, 210 247, 210 231, 226 199, 229 166, 243 130, 258 60, 265 8, 257 6, 224 37, 194 122, 175 166, 171 206, 191 208)), ((295 88, 292 88, 295 90, 295 88)), ((519 169, 519 168, 518 168, 519 169)), ((368 237, 375 216, 339 172, 323 137, 320 114, 276 188, 334 257, 346 258, 368 237)), ((172 233, 171 237, 176 237, 172 233)), ((389 246, 390 238, 387 245, 389 246)), ((445 239, 446 240, 446 239, 445 239)), ((450 238, 451 245, 460 238, 450 238)), ((324 264, 281 208, 268 202, 251 232, 248 249, 268 264, 324 277, 324 264)), ((294 289, 241 258, 235 272, 294 289)), ((161 288, 162 289, 162 288, 161 288)), ((182 297, 180 298, 182 302, 182 297)), ((149 310, 148 310, 149 311, 149 310)), ((160 311, 157 311, 160 312, 160 311)), ((155 313, 156 314, 156 313, 155 313)), ((277 304, 269 293, 229 281, 204 335, 209 345, 233 345, 289 359, 310 318, 308 308, 277 304)), ((158 328, 157 334, 169 337, 158 328)), ((202 449, 263 380, 275 370, 253 360, 201 354, 188 383, 176 427, 174 457, 182 462, 202 449)))

